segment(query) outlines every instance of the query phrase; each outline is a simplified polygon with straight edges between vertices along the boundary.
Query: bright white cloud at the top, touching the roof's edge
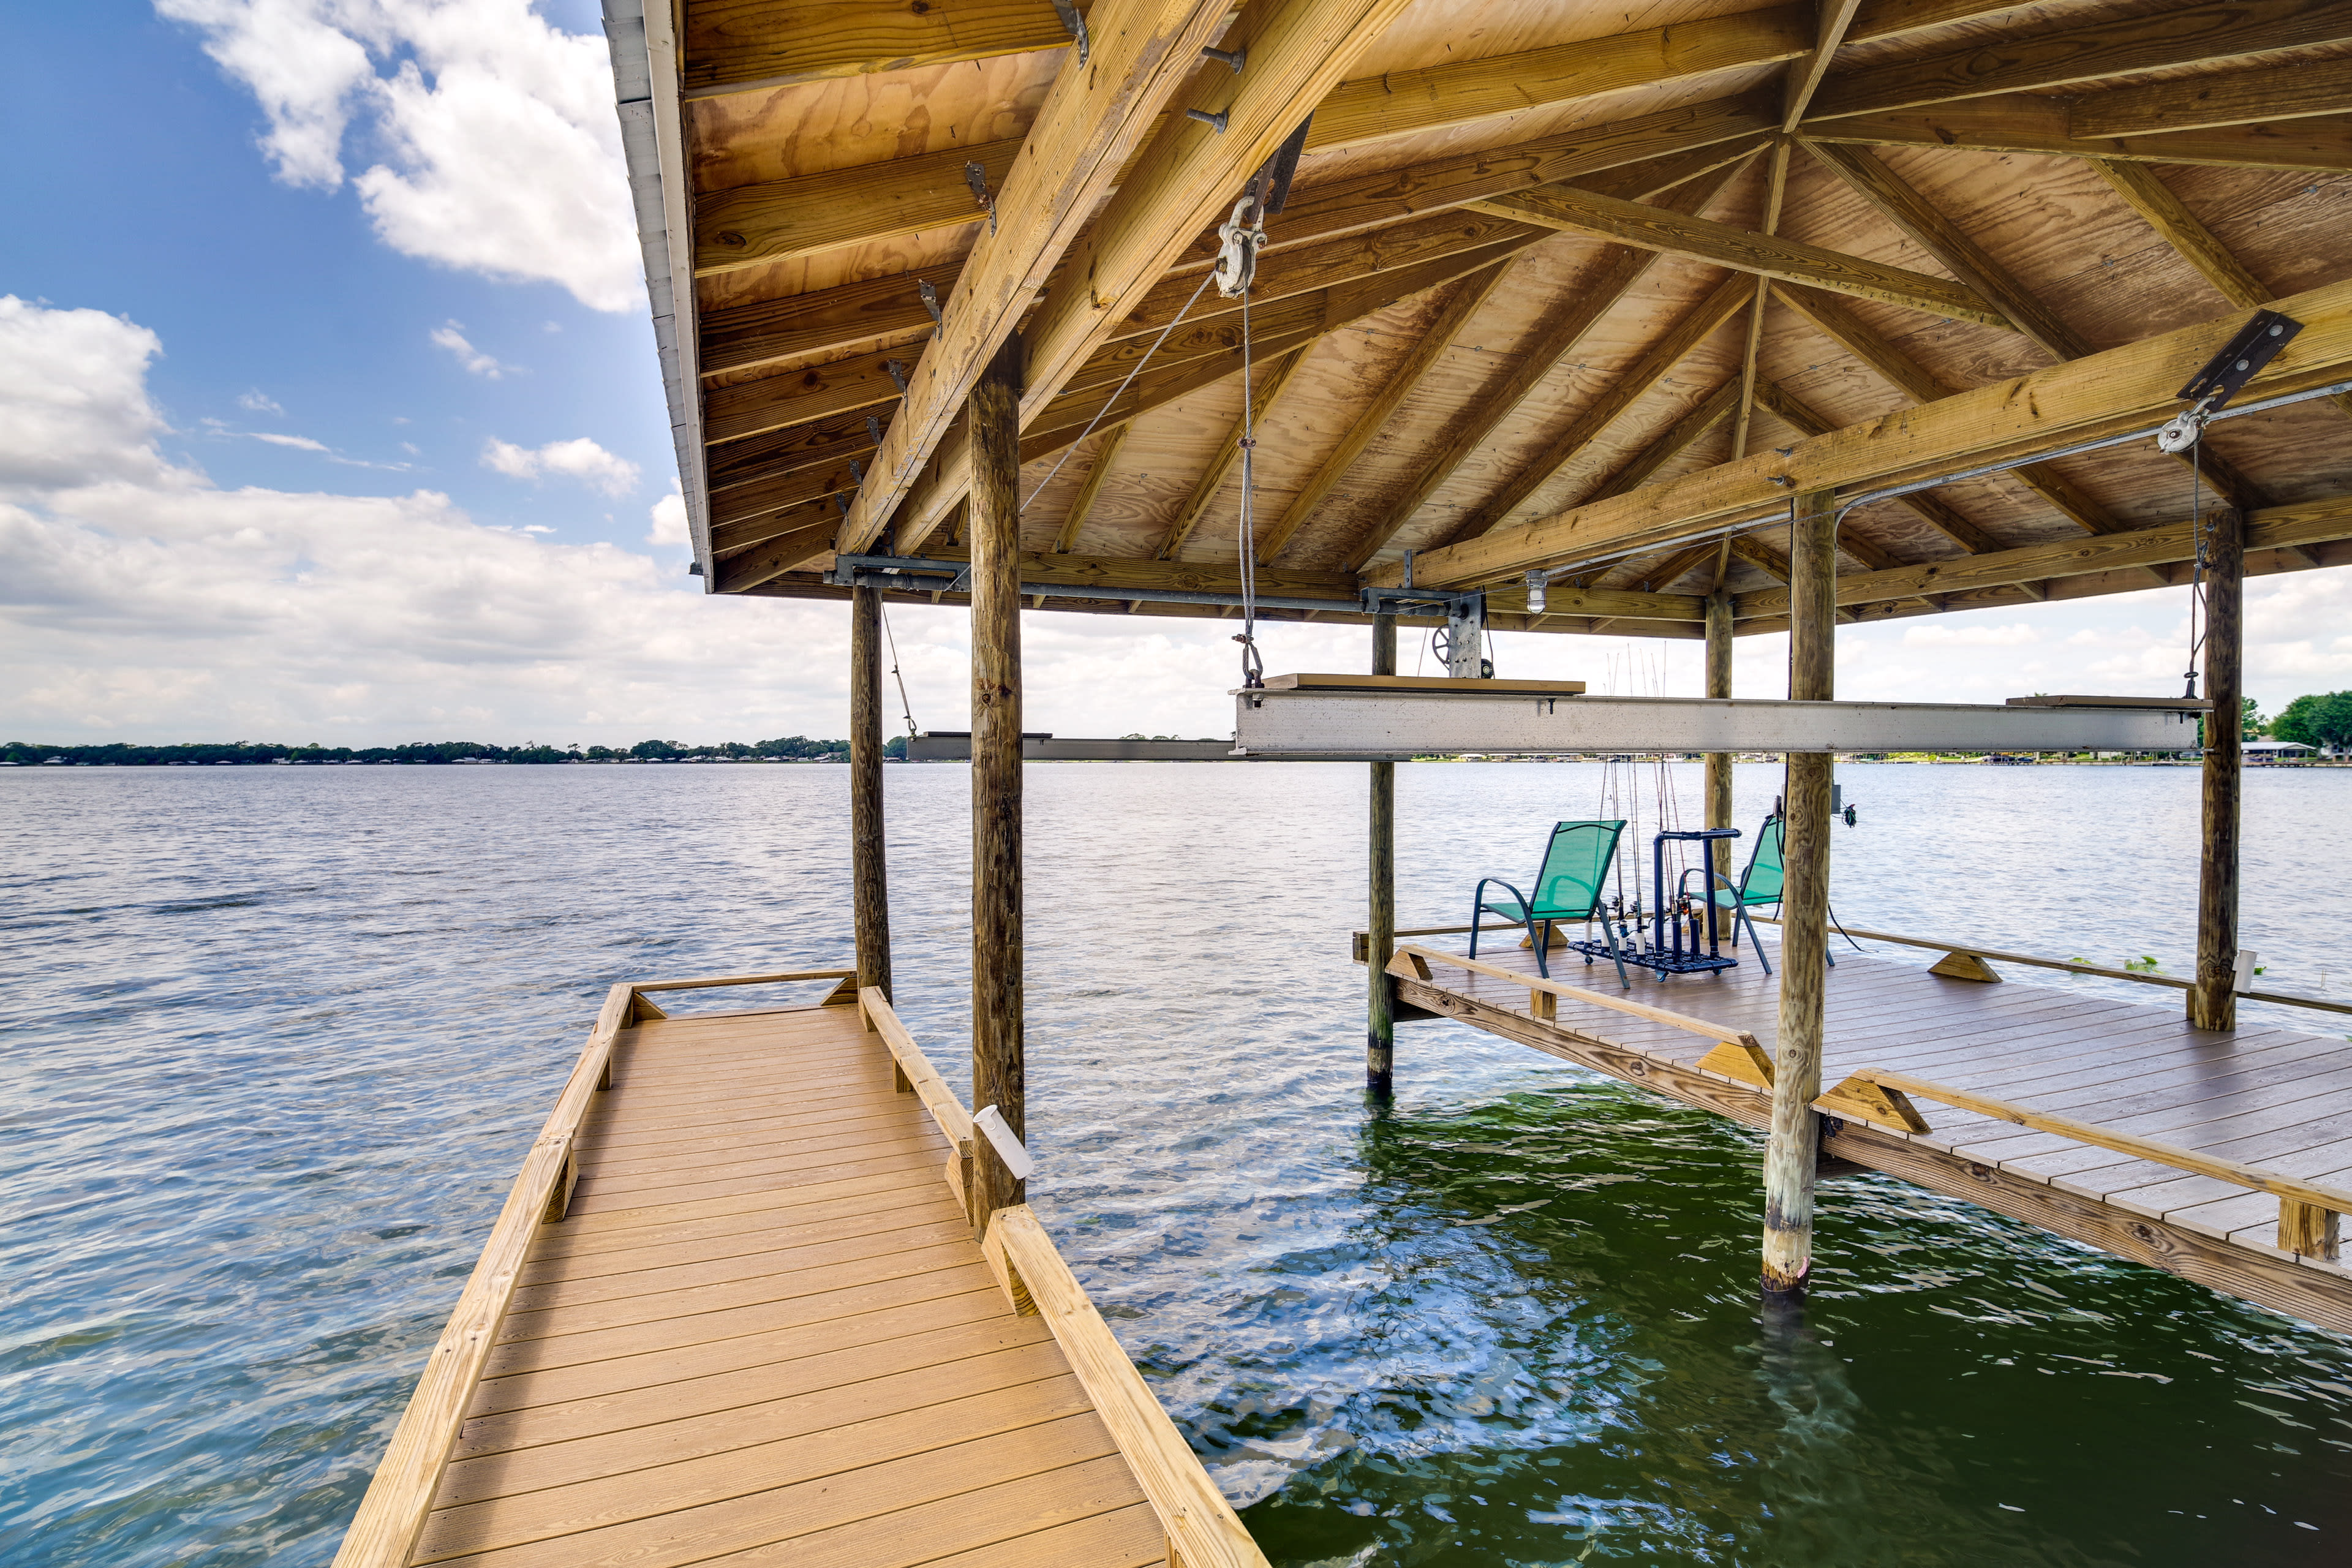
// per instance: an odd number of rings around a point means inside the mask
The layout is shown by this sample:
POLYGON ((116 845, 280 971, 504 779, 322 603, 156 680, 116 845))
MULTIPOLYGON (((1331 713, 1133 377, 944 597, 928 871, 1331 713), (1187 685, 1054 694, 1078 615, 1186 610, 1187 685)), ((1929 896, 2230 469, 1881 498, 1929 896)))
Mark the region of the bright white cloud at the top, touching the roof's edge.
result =
POLYGON ((353 122, 381 162, 350 176, 393 249, 595 310, 644 303, 612 56, 532 0, 155 0, 261 103, 292 186, 346 179, 353 122))

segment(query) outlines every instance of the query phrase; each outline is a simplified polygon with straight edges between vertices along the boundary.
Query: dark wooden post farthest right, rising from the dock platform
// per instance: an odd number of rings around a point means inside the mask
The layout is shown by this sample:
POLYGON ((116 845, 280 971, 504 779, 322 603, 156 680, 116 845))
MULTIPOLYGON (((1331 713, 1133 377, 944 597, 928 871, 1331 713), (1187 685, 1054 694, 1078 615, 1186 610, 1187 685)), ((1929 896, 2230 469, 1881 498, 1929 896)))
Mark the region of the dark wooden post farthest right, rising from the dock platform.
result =
POLYGON ((2232 510, 2206 517, 2204 853, 2197 867, 2197 983, 2190 1025, 2237 1027, 2237 811, 2244 755, 2246 534, 2232 510))

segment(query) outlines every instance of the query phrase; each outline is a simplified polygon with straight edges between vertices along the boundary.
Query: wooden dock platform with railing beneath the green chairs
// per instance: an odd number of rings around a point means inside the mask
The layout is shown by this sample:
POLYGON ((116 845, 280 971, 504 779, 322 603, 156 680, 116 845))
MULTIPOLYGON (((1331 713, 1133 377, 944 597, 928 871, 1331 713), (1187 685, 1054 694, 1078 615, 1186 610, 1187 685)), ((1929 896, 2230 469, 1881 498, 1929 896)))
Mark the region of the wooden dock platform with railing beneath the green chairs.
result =
MULTIPOLYGON (((1583 954, 1555 952, 1552 985, 1538 990, 1519 931, 1482 936, 1479 971, 1423 940, 1439 938, 1404 933, 1390 966, 1404 1004, 1769 1126, 1778 978, 1755 954, 1719 976, 1663 983, 1632 969, 1632 990, 1621 990, 1606 961, 1585 969, 1583 954)), ((1769 936, 1766 952, 1780 969, 1769 936)), ((1399 1058, 1411 1072, 1411 1051, 1399 1058)), ((2352 1208, 2343 1032, 2194 1030, 2171 1006, 1947 978, 1842 950, 1828 973, 1820 1081, 1825 1157, 2352 1331, 2352 1269, 2336 1260, 2331 1218, 2352 1208), (1856 1074, 1910 1086, 1907 1105, 1835 1100, 1856 1074), (1905 1126, 1903 1110, 1926 1131, 1905 1126)))

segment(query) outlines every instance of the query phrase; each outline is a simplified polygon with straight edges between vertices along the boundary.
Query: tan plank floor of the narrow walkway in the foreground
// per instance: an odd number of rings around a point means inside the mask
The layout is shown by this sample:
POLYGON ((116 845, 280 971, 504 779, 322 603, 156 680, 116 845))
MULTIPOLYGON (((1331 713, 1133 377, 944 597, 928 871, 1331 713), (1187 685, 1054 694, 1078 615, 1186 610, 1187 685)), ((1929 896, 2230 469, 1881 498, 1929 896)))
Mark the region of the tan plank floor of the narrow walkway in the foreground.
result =
POLYGON ((623 1032, 412 1561, 1164 1559, 946 1161, 856 1009, 623 1032))

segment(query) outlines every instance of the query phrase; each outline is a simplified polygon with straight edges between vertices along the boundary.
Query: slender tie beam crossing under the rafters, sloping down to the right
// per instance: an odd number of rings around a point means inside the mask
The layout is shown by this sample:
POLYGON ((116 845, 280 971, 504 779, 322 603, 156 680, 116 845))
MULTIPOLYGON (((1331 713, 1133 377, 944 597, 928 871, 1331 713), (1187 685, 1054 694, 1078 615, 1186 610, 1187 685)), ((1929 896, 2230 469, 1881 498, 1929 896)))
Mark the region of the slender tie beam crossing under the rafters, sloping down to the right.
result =
POLYGON ((1818 244, 1757 235, 1729 223, 1686 219, 1665 207, 1621 202, 1590 190, 1576 190, 1573 186, 1548 186, 1543 190, 1522 190, 1470 205, 1505 219, 1548 223, 1571 235, 1616 240, 1618 244, 1665 256, 1684 256, 1686 261, 1726 266, 1759 277, 1802 282, 1830 289, 1832 294, 1877 299, 1907 310, 1926 310, 1929 315, 1957 315, 1987 327, 2009 327, 2009 317, 2002 310, 1943 277, 1863 261, 1860 256, 1846 256, 1818 244))

